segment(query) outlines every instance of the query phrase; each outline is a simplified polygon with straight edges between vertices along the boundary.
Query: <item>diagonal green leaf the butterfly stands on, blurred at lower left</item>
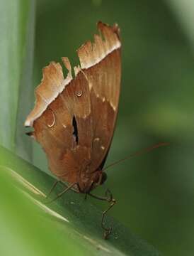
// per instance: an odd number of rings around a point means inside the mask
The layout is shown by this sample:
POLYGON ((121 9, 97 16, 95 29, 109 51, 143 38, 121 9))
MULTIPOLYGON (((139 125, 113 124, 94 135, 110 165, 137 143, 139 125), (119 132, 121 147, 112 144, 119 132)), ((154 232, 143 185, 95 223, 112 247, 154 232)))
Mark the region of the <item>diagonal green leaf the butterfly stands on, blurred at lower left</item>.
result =
MULTIPOLYGON (((105 224, 113 227, 113 233, 103 240, 101 211, 89 198, 84 200, 83 195, 69 191, 46 203, 45 195, 55 179, 2 146, 0 156, 0 222, 5 232, 0 233, 4 234, 0 235, 4 243, 1 255, 11 255, 13 250, 14 255, 160 255, 108 216, 105 224), (16 247, 9 247, 8 241, 16 247)), ((57 186, 52 196, 62 189, 62 185, 57 186)))

